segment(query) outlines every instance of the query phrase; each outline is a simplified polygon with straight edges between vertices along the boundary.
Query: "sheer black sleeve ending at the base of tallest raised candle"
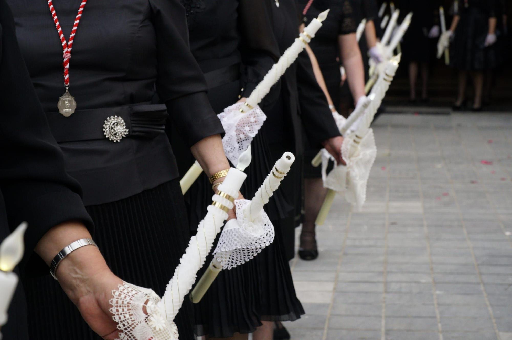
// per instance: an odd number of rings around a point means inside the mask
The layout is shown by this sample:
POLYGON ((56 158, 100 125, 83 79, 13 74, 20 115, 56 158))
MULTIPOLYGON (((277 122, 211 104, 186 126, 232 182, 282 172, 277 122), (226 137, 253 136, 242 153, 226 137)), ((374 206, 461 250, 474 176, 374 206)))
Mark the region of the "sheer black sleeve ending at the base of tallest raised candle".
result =
MULTIPOLYGON (((270 1, 266 0, 241 0, 239 4, 244 97, 251 94, 280 56, 268 15, 271 12, 270 5, 270 1)), ((265 102, 272 103, 276 99, 272 98, 272 94, 278 92, 271 91, 265 102)))

